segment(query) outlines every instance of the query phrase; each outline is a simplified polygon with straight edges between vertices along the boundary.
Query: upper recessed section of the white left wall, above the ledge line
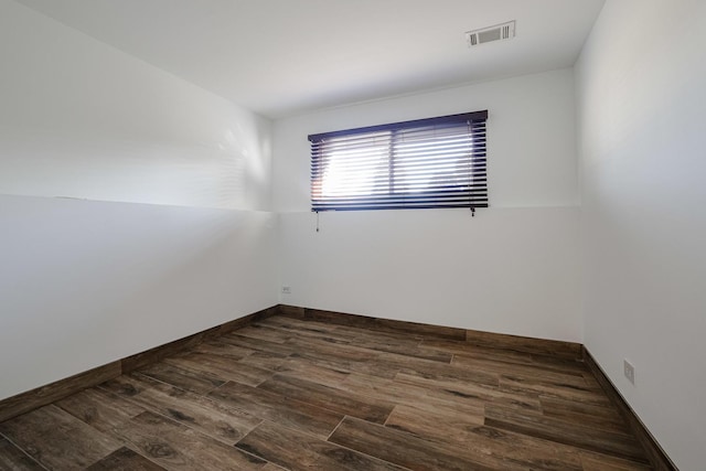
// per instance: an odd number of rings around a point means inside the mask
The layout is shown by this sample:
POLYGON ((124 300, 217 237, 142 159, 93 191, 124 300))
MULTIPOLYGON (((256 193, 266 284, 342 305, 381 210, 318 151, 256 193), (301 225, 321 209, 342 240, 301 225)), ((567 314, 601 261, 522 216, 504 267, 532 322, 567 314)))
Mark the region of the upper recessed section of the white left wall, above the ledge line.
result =
POLYGON ((0 0, 0 194, 268 210, 268 120, 0 0))

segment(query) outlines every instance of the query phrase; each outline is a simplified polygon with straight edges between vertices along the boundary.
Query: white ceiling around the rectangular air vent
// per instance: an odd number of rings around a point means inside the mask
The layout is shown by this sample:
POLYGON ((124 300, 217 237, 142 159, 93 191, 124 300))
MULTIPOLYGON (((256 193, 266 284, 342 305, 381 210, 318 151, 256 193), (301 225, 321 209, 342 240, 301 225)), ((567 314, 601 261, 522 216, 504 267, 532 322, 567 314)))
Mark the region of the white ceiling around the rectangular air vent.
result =
POLYGON ((605 0, 18 0, 279 118, 571 66, 605 0), (468 49, 469 30, 517 36, 468 49))

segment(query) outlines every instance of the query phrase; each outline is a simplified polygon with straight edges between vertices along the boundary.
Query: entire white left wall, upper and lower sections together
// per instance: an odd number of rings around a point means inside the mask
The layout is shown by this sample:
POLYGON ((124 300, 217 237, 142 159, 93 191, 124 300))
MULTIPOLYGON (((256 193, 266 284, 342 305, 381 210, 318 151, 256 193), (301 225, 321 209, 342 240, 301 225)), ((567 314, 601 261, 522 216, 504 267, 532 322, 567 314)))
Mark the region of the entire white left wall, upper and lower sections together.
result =
POLYGON ((0 398, 278 302, 268 120, 10 0, 0 64, 0 398))

